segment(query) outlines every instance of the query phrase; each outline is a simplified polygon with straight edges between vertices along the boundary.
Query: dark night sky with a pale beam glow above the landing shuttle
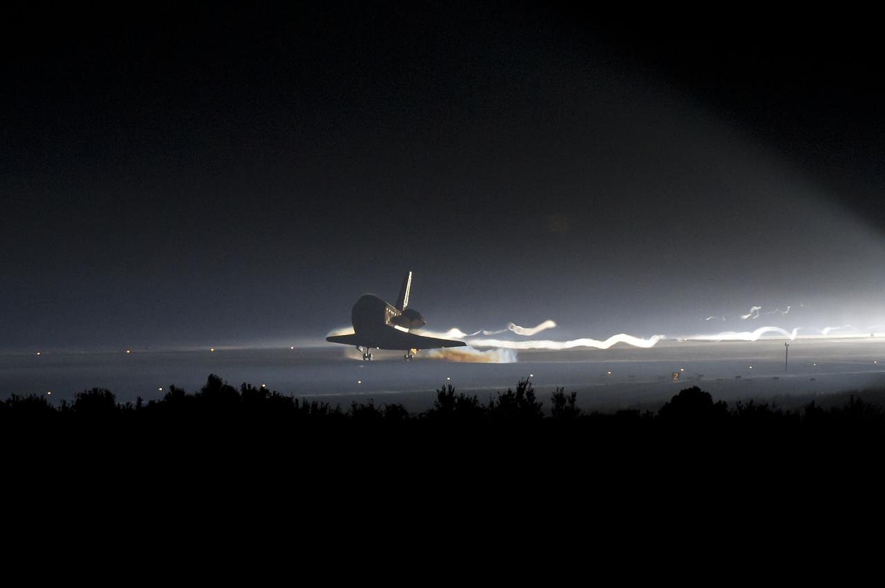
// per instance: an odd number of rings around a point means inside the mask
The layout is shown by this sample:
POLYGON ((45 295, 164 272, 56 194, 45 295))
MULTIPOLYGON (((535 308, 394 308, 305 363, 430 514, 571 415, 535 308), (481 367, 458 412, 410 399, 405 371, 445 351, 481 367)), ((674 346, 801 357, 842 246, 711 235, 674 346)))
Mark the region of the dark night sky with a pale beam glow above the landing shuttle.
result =
POLYGON ((407 270, 436 331, 885 324, 872 21, 4 11, 0 348, 319 344, 407 270))

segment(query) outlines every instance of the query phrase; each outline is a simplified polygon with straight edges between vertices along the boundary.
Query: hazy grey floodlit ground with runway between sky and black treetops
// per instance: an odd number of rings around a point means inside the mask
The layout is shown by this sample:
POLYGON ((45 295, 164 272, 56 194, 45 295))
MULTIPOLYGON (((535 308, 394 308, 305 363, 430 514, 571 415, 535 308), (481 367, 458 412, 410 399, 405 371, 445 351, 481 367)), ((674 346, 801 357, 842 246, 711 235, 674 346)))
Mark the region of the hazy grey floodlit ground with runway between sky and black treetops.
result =
POLYGON ((784 340, 666 340, 649 349, 524 351, 513 363, 458 363, 420 355, 406 363, 402 353, 383 351, 363 363, 352 355, 348 348, 332 346, 5 354, 0 355, 0 399, 36 393, 58 404, 98 386, 121 402, 138 396, 150 401, 162 398, 170 384, 196 392, 210 373, 234 386, 265 384, 344 409, 352 401, 373 399, 399 402, 412 411, 427 409, 441 386, 451 384, 488 401, 489 395, 528 377, 542 401, 561 386, 578 393, 582 408, 599 410, 654 409, 689 386, 729 402, 757 398, 781 404, 789 404, 790 396, 885 387, 885 339, 795 340, 789 369, 784 340))

